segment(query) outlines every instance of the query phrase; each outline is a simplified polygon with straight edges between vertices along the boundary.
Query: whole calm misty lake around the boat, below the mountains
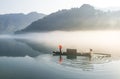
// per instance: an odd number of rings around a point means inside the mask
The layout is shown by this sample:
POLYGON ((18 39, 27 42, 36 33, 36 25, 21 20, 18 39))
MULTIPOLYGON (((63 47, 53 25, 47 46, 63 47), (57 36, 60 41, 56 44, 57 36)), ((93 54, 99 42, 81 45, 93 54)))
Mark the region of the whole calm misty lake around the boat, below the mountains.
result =
POLYGON ((0 35, 0 79, 119 79, 120 32, 77 31, 0 35), (78 52, 111 54, 53 56, 58 45, 78 52))

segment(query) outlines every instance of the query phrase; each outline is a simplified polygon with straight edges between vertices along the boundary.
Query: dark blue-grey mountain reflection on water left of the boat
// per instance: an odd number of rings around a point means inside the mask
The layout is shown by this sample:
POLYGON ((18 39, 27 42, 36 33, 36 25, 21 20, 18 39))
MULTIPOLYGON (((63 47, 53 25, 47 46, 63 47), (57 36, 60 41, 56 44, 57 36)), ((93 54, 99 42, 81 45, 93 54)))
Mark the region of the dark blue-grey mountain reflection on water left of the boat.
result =
POLYGON ((38 44, 24 39, 0 38, 0 56, 31 56, 36 57, 40 54, 51 53, 51 47, 38 44))

